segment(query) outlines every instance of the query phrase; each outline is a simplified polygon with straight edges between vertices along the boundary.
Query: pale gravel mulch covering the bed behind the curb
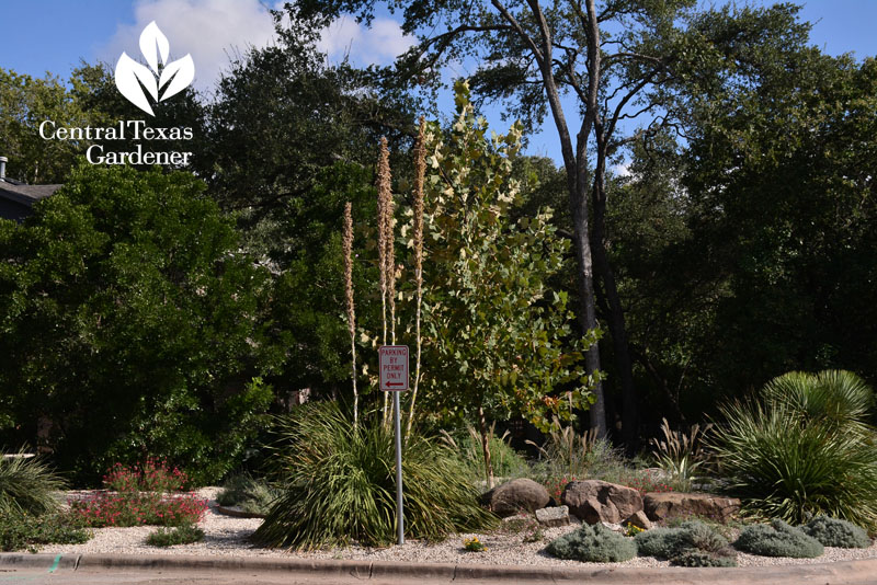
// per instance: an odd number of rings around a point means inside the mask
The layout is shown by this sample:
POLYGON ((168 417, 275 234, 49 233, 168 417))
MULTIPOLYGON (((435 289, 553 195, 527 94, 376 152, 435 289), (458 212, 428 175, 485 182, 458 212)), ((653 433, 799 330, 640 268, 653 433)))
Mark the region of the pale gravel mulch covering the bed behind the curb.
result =
MULTIPOLYGON (((523 534, 514 531, 497 531, 493 534, 464 534, 448 538, 444 542, 425 543, 407 541, 402 547, 374 549, 351 546, 315 552, 289 552, 284 550, 254 548, 247 541, 262 523, 260 518, 236 518, 216 512, 216 494, 218 487, 198 490, 200 497, 209 501, 209 509, 200 524, 206 532, 202 542, 159 548, 146 543, 147 536, 156 530, 152 526, 132 528, 100 528, 94 530, 94 538, 84 544, 52 544, 41 549, 47 553, 70 554, 187 554, 187 555, 225 555, 225 557, 274 557, 274 558, 309 558, 309 559, 356 559, 369 561, 400 561, 428 563, 479 563, 498 565, 547 565, 578 567, 661 567, 670 566, 669 561, 659 561, 651 557, 639 557, 624 563, 580 563, 563 561, 549 557, 543 549, 555 538, 574 530, 578 525, 549 528, 543 530, 545 538, 539 542, 525 543, 523 534), (488 548, 479 553, 468 552, 463 548, 463 539, 477 536, 488 548)), ((877 559, 877 542, 867 549, 835 549, 825 547, 825 553, 817 559, 775 559, 738 553, 740 566, 766 566, 786 564, 812 564, 858 559, 877 559)))

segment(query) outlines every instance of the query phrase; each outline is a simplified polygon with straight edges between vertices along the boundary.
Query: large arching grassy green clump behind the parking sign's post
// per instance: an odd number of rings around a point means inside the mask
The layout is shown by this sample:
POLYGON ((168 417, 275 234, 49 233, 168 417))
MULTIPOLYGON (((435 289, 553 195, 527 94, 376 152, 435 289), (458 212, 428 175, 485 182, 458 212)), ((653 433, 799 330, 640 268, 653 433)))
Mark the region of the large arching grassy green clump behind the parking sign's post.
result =
MULTIPOLYGON (((392 542, 395 444, 378 418, 363 417, 354 429, 333 402, 278 418, 274 457, 283 494, 253 540, 305 550, 392 542)), ((402 449, 406 534, 436 540, 497 526, 499 519, 478 505, 467 477, 453 450, 412 432, 402 449)))

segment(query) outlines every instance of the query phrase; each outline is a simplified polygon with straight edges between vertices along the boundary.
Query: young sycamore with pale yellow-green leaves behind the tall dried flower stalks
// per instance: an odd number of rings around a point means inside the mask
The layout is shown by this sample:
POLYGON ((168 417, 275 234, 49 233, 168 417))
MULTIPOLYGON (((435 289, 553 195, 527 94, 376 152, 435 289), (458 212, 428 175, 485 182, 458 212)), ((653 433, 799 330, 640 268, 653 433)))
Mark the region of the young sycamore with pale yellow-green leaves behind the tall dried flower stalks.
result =
POLYGON ((492 484, 488 418, 547 431, 588 408, 600 375, 586 375, 583 354, 599 332, 573 333, 566 292, 546 287, 569 249, 550 209, 510 221, 522 126, 489 137, 468 85, 456 90, 451 130, 426 137, 421 389, 430 412, 475 422, 492 484))

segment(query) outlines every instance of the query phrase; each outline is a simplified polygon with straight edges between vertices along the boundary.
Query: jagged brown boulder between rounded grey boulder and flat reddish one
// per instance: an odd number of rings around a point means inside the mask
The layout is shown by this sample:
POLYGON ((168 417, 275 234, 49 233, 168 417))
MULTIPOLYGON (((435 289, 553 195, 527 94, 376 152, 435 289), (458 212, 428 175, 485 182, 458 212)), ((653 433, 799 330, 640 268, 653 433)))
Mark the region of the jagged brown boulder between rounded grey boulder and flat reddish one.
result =
POLYGON ((570 514, 588 524, 618 524, 642 509, 639 492, 600 480, 568 483, 561 503, 569 506, 570 514))

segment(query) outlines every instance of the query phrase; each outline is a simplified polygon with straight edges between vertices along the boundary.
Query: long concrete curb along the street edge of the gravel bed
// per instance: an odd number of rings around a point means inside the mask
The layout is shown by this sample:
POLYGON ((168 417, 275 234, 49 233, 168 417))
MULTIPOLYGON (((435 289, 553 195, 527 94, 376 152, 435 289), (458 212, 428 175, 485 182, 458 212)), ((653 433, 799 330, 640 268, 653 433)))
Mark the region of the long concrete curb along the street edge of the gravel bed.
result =
POLYGON ((589 585, 874 585, 877 583, 877 559, 778 566, 732 569, 592 569, 558 566, 509 566, 449 563, 395 563, 387 561, 334 561, 307 559, 215 558, 183 555, 122 554, 22 554, 0 553, 0 569, 49 571, 118 570, 118 571, 248 571, 286 572, 356 580, 394 580, 403 582, 584 582, 589 585))

